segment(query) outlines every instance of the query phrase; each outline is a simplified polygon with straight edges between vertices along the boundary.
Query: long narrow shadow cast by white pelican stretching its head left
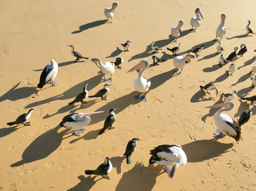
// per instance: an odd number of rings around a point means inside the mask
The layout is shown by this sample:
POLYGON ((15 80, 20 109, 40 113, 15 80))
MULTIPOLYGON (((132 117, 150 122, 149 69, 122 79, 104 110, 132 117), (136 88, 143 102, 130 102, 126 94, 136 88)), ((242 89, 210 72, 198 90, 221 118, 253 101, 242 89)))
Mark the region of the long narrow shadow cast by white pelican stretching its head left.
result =
MULTIPOLYGON (((81 82, 75 86, 73 86, 72 88, 68 89, 67 91, 61 93, 61 94, 58 94, 58 95, 54 95, 53 97, 51 98, 47 98, 47 99, 44 99, 44 100, 40 100, 40 101, 36 101, 36 102, 33 102, 33 103, 30 103, 29 105, 27 105, 25 108, 32 108, 32 107, 36 107, 36 106, 39 106, 39 105, 43 105, 45 103, 49 103, 51 101, 56 101, 56 100, 67 100, 67 99, 75 99, 76 96, 82 92, 82 89, 84 88, 84 86, 88 83, 88 86, 87 86, 87 90, 90 91, 92 90, 93 88, 95 88, 95 86, 98 85, 99 82, 101 82, 102 80, 102 74, 98 74, 96 76, 93 76, 91 77, 90 79, 84 81, 84 82, 81 82)), ((44 90, 44 89, 43 89, 44 90)), ((76 103, 75 103, 76 104, 76 103)), ((68 102, 67 102, 67 105, 68 105, 68 102)), ((70 106, 71 108, 73 106, 70 106)), ((63 110, 67 111, 67 107, 64 107, 63 110)))

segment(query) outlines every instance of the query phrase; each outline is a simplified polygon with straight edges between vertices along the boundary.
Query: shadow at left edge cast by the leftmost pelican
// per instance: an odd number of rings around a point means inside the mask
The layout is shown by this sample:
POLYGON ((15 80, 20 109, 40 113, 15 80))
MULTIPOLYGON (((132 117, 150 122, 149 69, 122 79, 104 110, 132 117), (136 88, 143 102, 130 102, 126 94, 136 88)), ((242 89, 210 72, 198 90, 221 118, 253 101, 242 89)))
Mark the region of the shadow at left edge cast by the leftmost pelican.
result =
POLYGON ((4 100, 16 101, 19 99, 24 99, 30 97, 32 94, 37 92, 35 87, 21 87, 17 88, 20 85, 20 82, 13 86, 13 88, 7 91, 0 97, 0 102, 4 100), (17 89, 16 89, 17 88, 17 89))

